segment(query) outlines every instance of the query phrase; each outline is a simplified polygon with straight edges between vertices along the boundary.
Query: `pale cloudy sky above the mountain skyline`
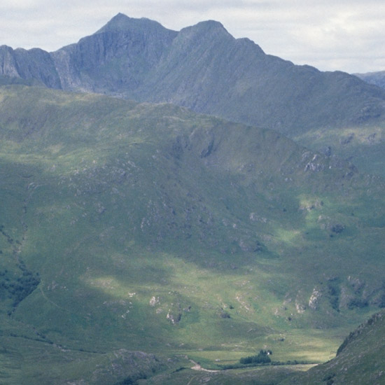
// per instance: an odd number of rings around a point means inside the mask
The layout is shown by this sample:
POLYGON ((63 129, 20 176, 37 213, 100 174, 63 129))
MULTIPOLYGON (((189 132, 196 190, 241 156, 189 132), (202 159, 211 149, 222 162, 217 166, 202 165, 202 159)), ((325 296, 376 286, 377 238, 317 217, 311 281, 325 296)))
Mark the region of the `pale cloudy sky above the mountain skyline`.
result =
POLYGON ((381 0, 1 0, 0 45, 54 51, 119 12, 176 31, 217 20, 267 54, 321 71, 385 71, 381 0))

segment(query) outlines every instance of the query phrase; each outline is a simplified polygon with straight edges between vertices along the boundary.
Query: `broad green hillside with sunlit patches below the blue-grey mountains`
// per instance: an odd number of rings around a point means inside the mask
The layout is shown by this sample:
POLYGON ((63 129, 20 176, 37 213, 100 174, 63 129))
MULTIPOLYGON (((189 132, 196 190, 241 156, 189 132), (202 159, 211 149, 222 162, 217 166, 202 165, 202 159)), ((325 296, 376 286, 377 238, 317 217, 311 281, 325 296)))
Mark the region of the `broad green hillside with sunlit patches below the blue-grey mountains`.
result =
POLYGON ((319 363, 385 306, 383 182, 276 132, 4 85, 0 176, 8 384, 319 363))

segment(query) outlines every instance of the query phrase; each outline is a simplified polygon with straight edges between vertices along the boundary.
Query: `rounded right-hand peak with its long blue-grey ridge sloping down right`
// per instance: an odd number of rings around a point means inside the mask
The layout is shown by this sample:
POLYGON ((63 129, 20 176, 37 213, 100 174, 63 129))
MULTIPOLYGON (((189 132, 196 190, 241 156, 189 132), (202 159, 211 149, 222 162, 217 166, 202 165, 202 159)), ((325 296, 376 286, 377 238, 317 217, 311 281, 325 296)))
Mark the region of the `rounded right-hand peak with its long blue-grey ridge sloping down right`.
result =
POLYGON ((144 97, 188 106, 292 136, 311 127, 351 125, 384 117, 385 93, 347 73, 265 55, 218 22, 182 29, 156 67, 144 97), (199 58, 199 59, 197 59, 199 58))

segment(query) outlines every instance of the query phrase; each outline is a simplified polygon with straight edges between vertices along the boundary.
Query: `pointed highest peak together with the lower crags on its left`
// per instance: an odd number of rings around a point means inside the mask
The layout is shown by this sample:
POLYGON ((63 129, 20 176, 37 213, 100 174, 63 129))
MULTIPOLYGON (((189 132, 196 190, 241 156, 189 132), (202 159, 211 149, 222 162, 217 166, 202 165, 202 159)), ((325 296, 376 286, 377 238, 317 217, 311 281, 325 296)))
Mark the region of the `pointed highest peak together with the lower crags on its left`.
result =
POLYGON ((158 22, 119 14, 92 36, 55 52, 1 46, 0 75, 63 90, 131 94, 176 34, 158 22))

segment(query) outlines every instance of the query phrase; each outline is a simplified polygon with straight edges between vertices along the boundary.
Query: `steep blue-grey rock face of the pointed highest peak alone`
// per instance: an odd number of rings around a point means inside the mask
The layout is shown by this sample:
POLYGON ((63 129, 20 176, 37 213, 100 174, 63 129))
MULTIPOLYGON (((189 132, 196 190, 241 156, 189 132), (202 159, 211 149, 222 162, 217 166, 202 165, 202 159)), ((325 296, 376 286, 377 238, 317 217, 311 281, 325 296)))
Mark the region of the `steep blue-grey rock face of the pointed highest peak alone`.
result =
POLYGON ((64 89, 132 97, 175 34, 158 22, 118 14, 95 34, 51 55, 64 89))

